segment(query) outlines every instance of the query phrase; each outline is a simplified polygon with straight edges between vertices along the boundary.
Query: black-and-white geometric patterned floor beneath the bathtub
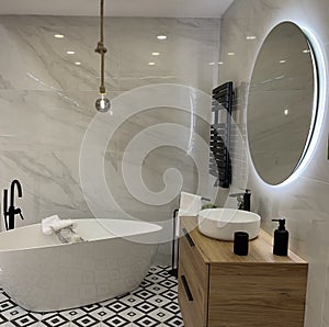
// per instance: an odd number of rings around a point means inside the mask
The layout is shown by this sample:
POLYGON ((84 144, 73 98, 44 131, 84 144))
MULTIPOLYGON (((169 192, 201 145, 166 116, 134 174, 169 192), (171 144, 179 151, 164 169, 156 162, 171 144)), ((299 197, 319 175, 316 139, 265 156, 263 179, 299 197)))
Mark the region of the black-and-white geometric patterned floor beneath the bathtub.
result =
POLYGON ((183 327, 177 280, 169 267, 151 267, 129 294, 75 309, 38 314, 18 306, 0 289, 1 327, 183 327))

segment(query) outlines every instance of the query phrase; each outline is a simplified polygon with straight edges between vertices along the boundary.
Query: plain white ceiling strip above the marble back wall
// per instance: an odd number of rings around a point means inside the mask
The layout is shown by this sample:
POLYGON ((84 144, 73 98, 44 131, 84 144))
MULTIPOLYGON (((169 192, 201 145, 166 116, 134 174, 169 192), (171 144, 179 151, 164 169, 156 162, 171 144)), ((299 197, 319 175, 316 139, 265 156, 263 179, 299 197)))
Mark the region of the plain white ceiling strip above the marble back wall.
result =
MULTIPOLYGON (((106 0, 107 16, 219 18, 234 0, 106 0)), ((99 0, 0 0, 0 14, 99 15, 99 0)))

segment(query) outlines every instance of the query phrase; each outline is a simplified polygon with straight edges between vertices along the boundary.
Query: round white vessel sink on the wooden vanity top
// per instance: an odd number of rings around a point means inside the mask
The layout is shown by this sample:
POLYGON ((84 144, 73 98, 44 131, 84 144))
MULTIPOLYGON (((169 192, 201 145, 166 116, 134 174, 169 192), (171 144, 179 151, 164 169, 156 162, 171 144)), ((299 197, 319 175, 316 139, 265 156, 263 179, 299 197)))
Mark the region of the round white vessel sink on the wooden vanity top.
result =
POLYGON ((197 215, 198 230, 222 240, 234 240, 235 232, 247 232, 249 239, 256 238, 260 219, 256 213, 226 207, 202 210, 197 215))

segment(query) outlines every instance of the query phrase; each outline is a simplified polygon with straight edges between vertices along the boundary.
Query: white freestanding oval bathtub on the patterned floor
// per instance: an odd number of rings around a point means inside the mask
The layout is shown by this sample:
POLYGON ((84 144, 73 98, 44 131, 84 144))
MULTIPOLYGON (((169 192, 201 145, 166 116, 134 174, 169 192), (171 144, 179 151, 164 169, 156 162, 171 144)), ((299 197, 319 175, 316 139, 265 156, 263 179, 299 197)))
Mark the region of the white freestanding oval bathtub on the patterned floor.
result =
POLYGON ((63 245, 41 224, 0 233, 0 283, 20 306, 53 312, 101 302, 136 289, 156 252, 155 224, 75 219, 86 240, 63 245))

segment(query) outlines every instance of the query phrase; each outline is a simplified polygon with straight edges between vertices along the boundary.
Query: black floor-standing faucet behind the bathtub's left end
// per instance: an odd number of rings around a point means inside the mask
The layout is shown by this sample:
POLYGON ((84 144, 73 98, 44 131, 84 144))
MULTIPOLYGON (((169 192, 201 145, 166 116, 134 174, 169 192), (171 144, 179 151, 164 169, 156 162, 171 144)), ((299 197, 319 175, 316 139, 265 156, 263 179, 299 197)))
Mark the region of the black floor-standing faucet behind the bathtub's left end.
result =
POLYGON ((10 206, 8 207, 8 190, 3 190, 3 217, 5 229, 15 228, 15 215, 19 214, 22 219, 24 219, 22 215, 22 210, 20 207, 15 207, 14 205, 14 190, 15 187, 18 189, 18 196, 22 198, 22 185, 19 180, 13 180, 10 184, 10 206))

